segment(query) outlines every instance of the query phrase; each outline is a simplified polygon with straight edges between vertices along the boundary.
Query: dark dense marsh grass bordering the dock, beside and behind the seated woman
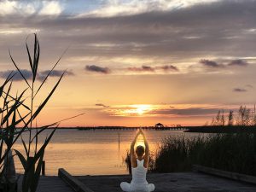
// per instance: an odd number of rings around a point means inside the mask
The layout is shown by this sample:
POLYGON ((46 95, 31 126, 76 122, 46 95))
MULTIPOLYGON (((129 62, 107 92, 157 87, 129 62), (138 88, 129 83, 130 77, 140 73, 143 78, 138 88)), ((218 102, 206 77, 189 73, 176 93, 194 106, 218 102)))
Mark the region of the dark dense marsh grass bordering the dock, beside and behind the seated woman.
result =
MULTIPOLYGON (((125 160, 129 158, 127 153, 125 160)), ((256 176, 256 134, 166 137, 152 156, 149 172, 188 172, 193 164, 256 176)))

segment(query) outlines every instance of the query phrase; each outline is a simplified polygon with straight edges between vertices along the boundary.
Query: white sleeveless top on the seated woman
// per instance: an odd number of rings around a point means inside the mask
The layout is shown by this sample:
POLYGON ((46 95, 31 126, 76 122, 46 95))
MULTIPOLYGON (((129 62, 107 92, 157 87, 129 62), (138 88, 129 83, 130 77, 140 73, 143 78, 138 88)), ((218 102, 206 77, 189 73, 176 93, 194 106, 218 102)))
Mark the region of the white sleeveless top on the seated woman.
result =
POLYGON ((148 184, 146 180, 147 168, 144 167, 144 160, 137 159, 137 167, 131 167, 132 183, 148 184))

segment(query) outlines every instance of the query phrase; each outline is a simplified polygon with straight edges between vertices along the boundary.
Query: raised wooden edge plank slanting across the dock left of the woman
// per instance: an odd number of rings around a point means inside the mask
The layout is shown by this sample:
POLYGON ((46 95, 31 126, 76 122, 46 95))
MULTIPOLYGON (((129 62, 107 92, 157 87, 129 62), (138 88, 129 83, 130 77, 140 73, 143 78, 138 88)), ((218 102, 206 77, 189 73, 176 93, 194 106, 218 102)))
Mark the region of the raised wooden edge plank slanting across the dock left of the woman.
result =
POLYGON ((80 182, 79 179, 70 175, 65 169, 61 168, 58 172, 59 177, 67 183, 76 192, 94 192, 85 186, 84 183, 80 182))

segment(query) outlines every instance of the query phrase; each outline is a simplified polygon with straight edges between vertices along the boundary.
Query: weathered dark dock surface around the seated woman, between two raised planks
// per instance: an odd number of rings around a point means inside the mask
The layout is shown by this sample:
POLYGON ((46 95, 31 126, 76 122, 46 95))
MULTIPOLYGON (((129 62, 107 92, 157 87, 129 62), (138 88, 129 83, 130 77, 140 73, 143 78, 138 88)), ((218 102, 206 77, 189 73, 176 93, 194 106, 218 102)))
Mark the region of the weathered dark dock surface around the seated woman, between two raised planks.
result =
MULTIPOLYGON (((119 183, 131 182, 131 176, 77 176, 94 192, 121 192, 119 183)), ((197 172, 148 174, 155 192, 254 192, 256 185, 197 172)))

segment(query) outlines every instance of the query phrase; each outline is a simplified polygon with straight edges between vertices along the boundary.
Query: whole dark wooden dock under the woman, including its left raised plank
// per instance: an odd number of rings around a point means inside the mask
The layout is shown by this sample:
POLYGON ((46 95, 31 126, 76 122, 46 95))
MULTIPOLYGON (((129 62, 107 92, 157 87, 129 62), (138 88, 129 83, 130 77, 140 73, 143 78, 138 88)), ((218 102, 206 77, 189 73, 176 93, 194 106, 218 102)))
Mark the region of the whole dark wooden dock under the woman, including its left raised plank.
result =
MULTIPOLYGON (((41 177, 37 192, 122 192, 119 183, 131 182, 131 175, 72 176, 60 169, 59 177, 41 177)), ((254 192, 256 184, 216 177, 201 172, 152 173, 148 183, 155 192, 254 192)))

